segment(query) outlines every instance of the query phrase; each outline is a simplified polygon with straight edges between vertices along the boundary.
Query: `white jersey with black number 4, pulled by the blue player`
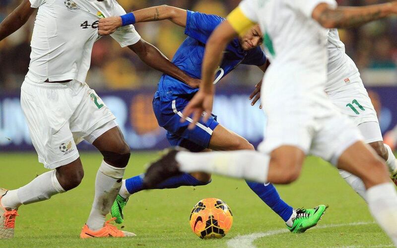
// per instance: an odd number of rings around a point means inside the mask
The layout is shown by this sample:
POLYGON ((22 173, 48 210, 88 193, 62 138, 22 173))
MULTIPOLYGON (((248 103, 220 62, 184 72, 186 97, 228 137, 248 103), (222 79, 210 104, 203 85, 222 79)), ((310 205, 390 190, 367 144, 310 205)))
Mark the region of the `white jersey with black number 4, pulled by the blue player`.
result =
MULTIPOLYGON (((91 52, 98 35, 98 20, 125 14, 116 0, 30 0, 39 8, 32 36, 32 53, 26 78, 35 83, 77 80, 85 82, 91 52)), ((132 25, 112 37, 122 46, 140 40, 132 25)))

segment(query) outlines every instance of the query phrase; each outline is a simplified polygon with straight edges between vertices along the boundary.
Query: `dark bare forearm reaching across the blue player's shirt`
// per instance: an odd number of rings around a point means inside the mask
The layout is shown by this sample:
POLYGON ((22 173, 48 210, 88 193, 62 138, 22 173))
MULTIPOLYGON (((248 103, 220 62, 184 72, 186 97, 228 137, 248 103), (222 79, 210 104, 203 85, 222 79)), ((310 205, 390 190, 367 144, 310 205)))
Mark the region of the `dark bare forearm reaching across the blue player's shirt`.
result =
POLYGON ((129 46, 129 48, 150 67, 175 77, 193 88, 199 87, 200 79, 192 78, 187 75, 150 43, 141 39, 137 43, 129 46))

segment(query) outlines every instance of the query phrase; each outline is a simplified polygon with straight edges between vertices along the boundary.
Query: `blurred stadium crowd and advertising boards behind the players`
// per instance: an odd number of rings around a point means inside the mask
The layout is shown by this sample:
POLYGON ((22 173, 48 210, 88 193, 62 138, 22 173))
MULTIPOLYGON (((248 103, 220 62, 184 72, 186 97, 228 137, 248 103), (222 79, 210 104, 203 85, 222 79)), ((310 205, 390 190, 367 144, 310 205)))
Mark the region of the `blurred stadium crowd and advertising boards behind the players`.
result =
MULTIPOLYGON (((118 0, 127 10, 168 4, 226 16, 239 0, 118 0)), ((19 0, 0 0, 0 21, 19 0)), ((364 5, 381 0, 338 0, 341 5, 364 5)), ((0 43, 0 151, 33 150, 19 103, 19 88, 29 66, 34 16, 18 32, 0 43)), ((143 39, 172 59, 184 40, 183 28, 162 21, 136 25, 143 39)), ((347 54, 357 63, 377 108, 387 142, 397 140, 397 18, 340 31, 347 54)), ((160 73, 109 37, 94 46, 87 83, 95 89, 118 118, 133 149, 156 150, 168 146, 151 108, 160 73)), ((248 95, 261 79, 259 69, 239 66, 217 84, 214 113, 220 123, 258 144, 263 139, 265 117, 251 107, 248 95)), ((81 144, 80 149, 90 149, 81 144)))

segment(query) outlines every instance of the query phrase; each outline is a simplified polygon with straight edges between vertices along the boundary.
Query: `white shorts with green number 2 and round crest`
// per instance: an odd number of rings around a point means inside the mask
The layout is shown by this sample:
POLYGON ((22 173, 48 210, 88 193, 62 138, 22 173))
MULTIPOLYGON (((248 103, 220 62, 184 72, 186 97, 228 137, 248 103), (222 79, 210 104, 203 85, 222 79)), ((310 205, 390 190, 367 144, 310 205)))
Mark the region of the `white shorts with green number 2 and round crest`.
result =
POLYGON ((34 83, 21 87, 21 107, 39 162, 55 169, 75 161, 76 144, 92 143, 117 126, 115 116, 87 84, 34 83))

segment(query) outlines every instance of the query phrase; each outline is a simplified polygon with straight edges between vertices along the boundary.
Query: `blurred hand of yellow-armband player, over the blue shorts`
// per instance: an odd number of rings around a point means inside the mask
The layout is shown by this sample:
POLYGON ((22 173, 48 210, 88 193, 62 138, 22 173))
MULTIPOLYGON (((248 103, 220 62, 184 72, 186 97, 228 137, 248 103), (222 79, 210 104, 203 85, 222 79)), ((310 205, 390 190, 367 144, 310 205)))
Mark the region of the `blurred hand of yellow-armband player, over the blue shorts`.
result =
POLYGON ((204 122, 208 121, 212 113, 213 102, 213 93, 204 92, 204 90, 200 89, 183 111, 183 118, 181 119, 181 122, 186 122, 186 118, 193 115, 193 122, 189 124, 189 129, 193 129, 200 121, 201 117, 203 118, 204 122))

